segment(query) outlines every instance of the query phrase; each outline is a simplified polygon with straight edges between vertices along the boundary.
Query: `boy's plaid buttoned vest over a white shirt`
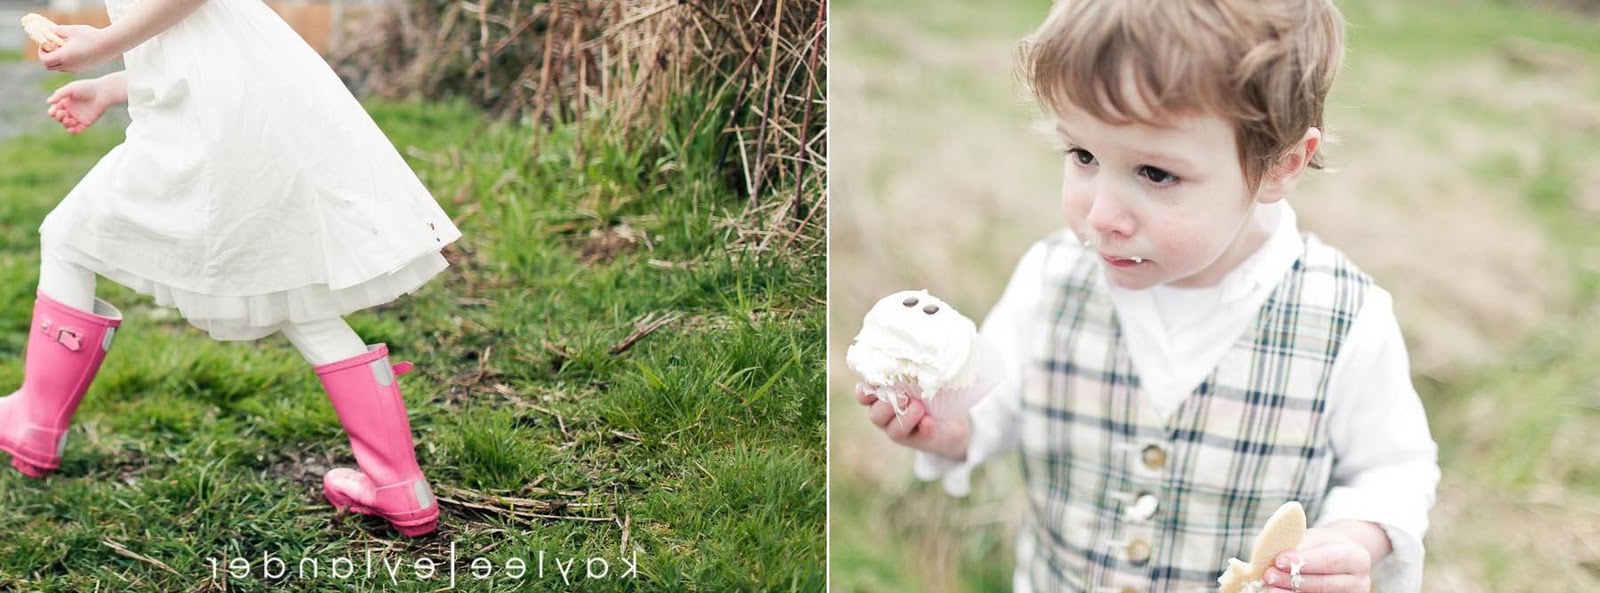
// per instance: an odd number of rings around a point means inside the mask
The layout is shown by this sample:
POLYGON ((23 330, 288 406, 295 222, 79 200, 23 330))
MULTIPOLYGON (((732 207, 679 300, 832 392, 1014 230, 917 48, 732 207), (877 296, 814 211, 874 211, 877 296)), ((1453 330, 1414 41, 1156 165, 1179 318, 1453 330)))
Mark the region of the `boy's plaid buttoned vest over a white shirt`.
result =
POLYGON ((1099 259, 1066 233, 1043 243, 1019 579, 1035 591, 1214 591, 1278 505, 1299 500, 1315 521, 1333 468, 1328 376, 1371 283, 1304 241, 1254 324, 1170 417, 1144 401, 1099 259))

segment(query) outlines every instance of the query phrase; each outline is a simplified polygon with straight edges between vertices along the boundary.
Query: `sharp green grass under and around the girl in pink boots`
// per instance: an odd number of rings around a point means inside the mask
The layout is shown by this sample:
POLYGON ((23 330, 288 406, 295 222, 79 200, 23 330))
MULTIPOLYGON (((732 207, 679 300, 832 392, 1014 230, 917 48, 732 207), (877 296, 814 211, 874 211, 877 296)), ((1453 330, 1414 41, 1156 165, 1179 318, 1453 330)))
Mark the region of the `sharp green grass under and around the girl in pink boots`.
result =
MULTIPOLYGON (((286 340, 214 342, 102 280, 126 321, 61 470, 0 473, 0 583, 429 591, 448 585, 453 545, 462 588, 821 590, 824 265, 736 243, 744 201, 707 150, 718 126, 626 150, 603 121, 536 139, 458 104, 370 110, 464 233, 446 275, 349 318, 418 363, 402 385, 419 462, 450 499, 440 531, 405 540, 322 500, 320 473, 350 465, 349 444, 286 340), (635 246, 582 257, 592 232, 622 224, 635 246), (651 313, 675 321, 613 355, 651 313), (549 502, 547 518, 461 503, 493 497, 549 502), (624 540, 634 579, 619 579, 624 540), (480 555, 488 582, 469 577, 480 555), (563 583, 555 556, 605 558, 610 579, 563 583), (232 558, 248 577, 227 575, 232 558), (262 580, 267 558, 290 575, 262 580), (357 574, 298 579, 307 558, 354 558, 357 574), (434 580, 411 571, 422 558, 434 580), (381 563, 408 569, 395 585, 381 563)), ((22 376, 37 225, 118 141, 0 145, 0 380, 22 376)))

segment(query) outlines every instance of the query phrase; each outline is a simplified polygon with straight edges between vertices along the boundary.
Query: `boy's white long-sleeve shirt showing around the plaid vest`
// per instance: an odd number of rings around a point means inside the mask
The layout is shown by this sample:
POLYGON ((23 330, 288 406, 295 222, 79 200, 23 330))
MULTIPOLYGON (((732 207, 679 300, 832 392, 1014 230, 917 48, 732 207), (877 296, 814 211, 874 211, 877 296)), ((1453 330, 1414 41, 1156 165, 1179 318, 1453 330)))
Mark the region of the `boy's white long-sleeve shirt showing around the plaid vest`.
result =
MULTIPOLYGON (((1293 208, 1259 206, 1272 230, 1266 243, 1211 288, 1158 286, 1110 289, 1125 345, 1149 401, 1168 414, 1214 369, 1250 329, 1277 283, 1304 251, 1293 208)), ((1008 379, 970 412, 966 460, 917 456, 917 475, 944 478, 952 495, 966 494, 973 467, 1016 448, 1022 352, 1030 318, 1043 297, 1043 253, 1022 256, 979 336, 1010 366, 1008 379)), ((1371 521, 1389 535, 1394 551, 1373 566, 1373 583, 1386 593, 1421 590, 1422 535, 1438 484, 1437 446, 1411 385, 1410 361, 1394 300, 1373 286, 1355 315, 1328 379, 1328 441, 1333 489, 1317 524, 1371 521)), ((1221 567, 1219 567, 1221 569, 1221 567)), ((1024 585, 1022 579, 1016 580, 1024 585)))

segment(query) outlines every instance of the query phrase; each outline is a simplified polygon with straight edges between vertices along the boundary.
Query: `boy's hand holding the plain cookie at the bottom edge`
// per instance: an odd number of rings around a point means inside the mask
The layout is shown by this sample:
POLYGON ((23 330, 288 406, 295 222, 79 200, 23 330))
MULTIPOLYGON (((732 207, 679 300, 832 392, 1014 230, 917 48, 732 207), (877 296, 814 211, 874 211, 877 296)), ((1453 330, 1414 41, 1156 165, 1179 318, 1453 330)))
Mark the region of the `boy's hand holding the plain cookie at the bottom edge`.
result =
POLYGON ((1299 548, 1280 553, 1264 575, 1269 593, 1368 593, 1373 555, 1334 529, 1307 529, 1299 548), (1290 569, 1302 563, 1299 587, 1290 569))

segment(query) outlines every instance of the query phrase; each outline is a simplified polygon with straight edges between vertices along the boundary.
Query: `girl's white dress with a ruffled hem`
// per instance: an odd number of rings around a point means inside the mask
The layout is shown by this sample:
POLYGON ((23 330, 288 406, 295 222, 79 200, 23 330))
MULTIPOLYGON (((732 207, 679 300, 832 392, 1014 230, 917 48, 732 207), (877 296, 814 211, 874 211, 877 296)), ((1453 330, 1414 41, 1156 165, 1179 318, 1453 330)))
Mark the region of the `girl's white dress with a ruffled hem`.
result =
MULTIPOLYGON (((120 19, 139 0, 107 0, 120 19)), ((461 232, 261 0, 208 0, 123 54, 126 141, 40 225, 62 259, 259 339, 416 291, 461 232)))

